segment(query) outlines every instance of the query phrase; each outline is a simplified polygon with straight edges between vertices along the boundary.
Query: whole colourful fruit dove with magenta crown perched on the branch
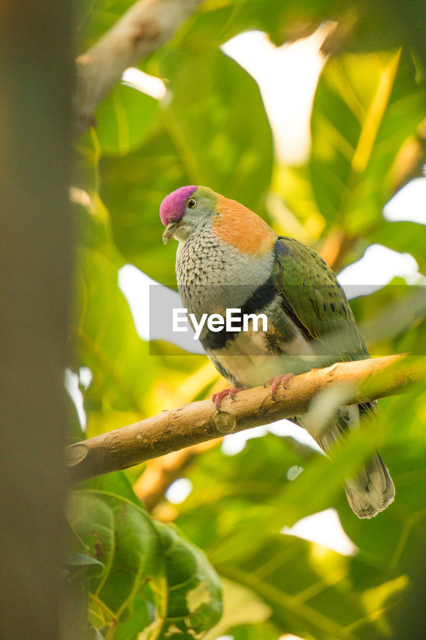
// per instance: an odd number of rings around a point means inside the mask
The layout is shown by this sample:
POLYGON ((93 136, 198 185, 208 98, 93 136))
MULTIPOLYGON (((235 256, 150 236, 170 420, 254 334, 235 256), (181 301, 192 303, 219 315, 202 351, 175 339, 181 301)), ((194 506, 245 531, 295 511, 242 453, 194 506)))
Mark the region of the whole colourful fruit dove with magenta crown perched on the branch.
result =
MULTIPOLYGON (((369 358, 349 302, 331 268, 297 239, 279 236, 255 212, 204 186, 182 186, 162 200, 164 244, 178 241, 176 276, 180 299, 200 326, 203 349, 232 388, 214 394, 220 411, 226 394, 243 388, 287 388, 294 375, 335 362, 369 358), (226 310, 248 316, 246 331, 218 319, 226 310), (255 326, 264 314, 267 326, 255 326), (219 330, 219 326, 221 330, 219 330)), ((237 316, 233 316, 237 317, 237 316)), ((313 436, 326 455, 333 445, 377 412, 376 403, 312 412, 293 421, 313 436)), ((345 493, 359 518, 372 518, 393 501, 395 487, 378 452, 358 475, 345 479, 345 493)))

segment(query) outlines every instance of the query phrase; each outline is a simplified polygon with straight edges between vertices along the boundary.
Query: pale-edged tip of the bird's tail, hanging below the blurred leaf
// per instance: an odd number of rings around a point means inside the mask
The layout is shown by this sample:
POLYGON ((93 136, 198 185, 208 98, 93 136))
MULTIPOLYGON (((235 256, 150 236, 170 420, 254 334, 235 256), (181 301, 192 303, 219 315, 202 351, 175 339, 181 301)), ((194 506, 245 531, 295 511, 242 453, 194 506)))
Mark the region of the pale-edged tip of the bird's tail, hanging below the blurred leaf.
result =
POLYGON ((372 518, 393 502, 395 487, 378 453, 356 478, 346 481, 345 492, 358 518, 372 518))

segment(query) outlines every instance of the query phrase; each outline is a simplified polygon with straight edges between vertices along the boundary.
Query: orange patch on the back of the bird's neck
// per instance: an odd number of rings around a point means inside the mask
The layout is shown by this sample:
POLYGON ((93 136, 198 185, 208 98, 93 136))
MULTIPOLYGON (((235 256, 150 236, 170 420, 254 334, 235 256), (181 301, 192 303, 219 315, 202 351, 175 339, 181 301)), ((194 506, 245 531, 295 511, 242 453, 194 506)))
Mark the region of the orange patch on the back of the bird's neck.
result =
POLYGON ((219 195, 212 230, 239 253, 264 257, 272 251, 277 234, 260 216, 236 200, 219 195))

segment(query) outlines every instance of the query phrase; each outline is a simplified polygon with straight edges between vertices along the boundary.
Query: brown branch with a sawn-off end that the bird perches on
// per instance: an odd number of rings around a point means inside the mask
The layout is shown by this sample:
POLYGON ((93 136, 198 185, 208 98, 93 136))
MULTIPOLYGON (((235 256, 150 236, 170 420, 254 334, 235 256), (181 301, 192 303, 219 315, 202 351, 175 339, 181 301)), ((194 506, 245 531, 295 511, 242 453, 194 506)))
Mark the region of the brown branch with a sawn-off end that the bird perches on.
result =
POLYGON ((401 394, 426 380, 426 360, 394 355, 337 362, 326 369, 296 376, 287 390, 279 387, 277 401, 269 388, 241 391, 225 397, 221 413, 209 400, 185 404, 171 411, 103 433, 67 447, 66 460, 74 482, 132 467, 171 451, 207 442, 275 420, 306 413, 311 401, 332 387, 345 393, 345 404, 401 394))

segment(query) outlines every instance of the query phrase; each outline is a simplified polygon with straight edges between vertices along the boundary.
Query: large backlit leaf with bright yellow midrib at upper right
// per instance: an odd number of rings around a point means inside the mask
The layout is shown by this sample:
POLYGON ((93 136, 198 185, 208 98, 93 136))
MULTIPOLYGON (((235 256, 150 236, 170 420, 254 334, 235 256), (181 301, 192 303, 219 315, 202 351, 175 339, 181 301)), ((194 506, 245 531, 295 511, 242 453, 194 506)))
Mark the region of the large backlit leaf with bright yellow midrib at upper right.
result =
POLYGON ((312 112, 312 186, 328 223, 350 236, 375 227, 393 195, 398 150, 423 120, 426 92, 398 53, 329 60, 312 112))

